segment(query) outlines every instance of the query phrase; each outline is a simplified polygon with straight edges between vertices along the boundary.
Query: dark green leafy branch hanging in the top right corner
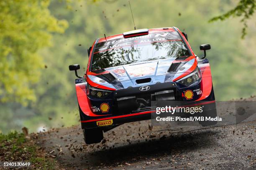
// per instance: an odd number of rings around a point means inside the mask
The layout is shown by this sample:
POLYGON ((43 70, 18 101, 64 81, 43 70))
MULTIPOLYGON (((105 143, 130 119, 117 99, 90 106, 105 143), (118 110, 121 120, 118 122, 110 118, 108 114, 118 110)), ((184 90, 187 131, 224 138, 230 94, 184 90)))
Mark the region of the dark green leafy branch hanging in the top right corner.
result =
POLYGON ((214 17, 209 20, 209 22, 217 21, 217 20, 226 20, 230 18, 230 16, 233 17, 242 17, 241 23, 243 23, 243 29, 242 29, 242 38, 245 37, 247 34, 247 20, 253 16, 254 11, 256 10, 256 0, 240 0, 238 2, 238 5, 233 8, 232 10, 229 10, 227 13, 214 17))

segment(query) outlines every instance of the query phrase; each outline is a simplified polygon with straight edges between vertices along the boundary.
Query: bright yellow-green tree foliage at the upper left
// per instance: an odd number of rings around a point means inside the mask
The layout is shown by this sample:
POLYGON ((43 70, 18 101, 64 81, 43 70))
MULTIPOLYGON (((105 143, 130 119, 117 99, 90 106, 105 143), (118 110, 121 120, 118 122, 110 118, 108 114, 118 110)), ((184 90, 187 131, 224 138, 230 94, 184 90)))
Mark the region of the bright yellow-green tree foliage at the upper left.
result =
POLYGON ((50 45, 50 32, 63 33, 67 21, 48 10, 49 0, 0 1, 0 101, 36 100, 33 84, 44 66, 38 50, 50 45))

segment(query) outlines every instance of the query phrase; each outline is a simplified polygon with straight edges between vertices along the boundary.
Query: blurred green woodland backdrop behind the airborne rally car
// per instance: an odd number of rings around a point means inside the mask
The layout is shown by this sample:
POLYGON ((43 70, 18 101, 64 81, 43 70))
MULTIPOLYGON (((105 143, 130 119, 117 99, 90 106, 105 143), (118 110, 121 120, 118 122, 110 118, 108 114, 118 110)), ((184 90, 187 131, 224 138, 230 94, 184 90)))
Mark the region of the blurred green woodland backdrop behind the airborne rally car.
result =
MULTIPOLYGON (((12 93, 12 89, 9 89, 9 95, 4 95, 3 90, 6 88, 3 83, 0 84, 0 132, 20 130, 23 126, 27 127, 29 132, 37 132, 42 128, 47 130, 53 127, 78 125, 75 75, 74 72, 69 71, 68 66, 80 64, 82 69, 79 70, 79 75, 83 75, 88 60, 87 48, 97 37, 104 37, 104 33, 108 36, 133 30, 128 0, 46 0, 45 2, 49 4, 44 6, 44 13, 40 15, 36 14, 42 8, 36 9, 29 15, 31 10, 26 9, 26 2, 20 4, 14 2, 15 5, 13 3, 13 6, 8 6, 13 16, 20 16, 19 13, 23 8, 28 10, 23 17, 16 18, 28 24, 24 29, 18 29, 21 28, 20 26, 8 28, 10 34, 8 36, 17 34, 15 38, 18 38, 27 34, 25 39, 29 42, 29 47, 36 45, 37 50, 32 49, 33 52, 29 55, 28 52, 19 54, 21 48, 17 48, 16 56, 22 56, 23 62, 17 62, 15 67, 8 69, 6 65, 13 63, 11 60, 3 60, 4 55, 0 56, 2 57, 1 79, 5 80, 7 74, 11 74, 10 77, 14 76, 14 83, 15 80, 18 82, 27 80, 26 76, 21 77, 24 75, 19 77, 19 68, 22 67, 26 67, 26 72, 33 75, 32 81, 15 86, 20 92, 18 95, 12 93), (41 21, 46 25, 44 28, 40 27, 41 21), (40 30, 39 33, 42 35, 34 36, 38 38, 30 38, 29 36, 33 36, 32 33, 22 31, 35 22, 38 22, 38 26, 31 27, 30 31, 40 30), (47 42, 44 43, 44 40, 47 42), (6 64, 3 64, 4 62, 6 64), (15 76, 18 78, 15 79, 15 76), (22 93, 23 90, 27 91, 22 93)), ((248 21, 248 34, 245 39, 241 39, 243 25, 239 18, 214 23, 208 23, 208 20, 232 9, 237 2, 237 0, 131 0, 131 6, 137 29, 175 26, 188 34, 189 44, 198 56, 203 55, 199 45, 209 43, 212 49, 207 51, 207 58, 212 69, 215 97, 217 100, 231 100, 256 94, 256 16, 248 21)), ((3 6, 3 2, 0 2, 0 7, 1 3, 3 6)), ((1 24, 3 25, 8 19, 12 18, 3 18, 2 15, 0 29, 1 24)), ((11 40, 5 39, 6 42, 11 40)), ((0 52, 3 52, 6 42, 0 42, 2 45, 0 52)), ((16 46, 18 45, 14 45, 16 46)), ((8 85, 8 87, 12 86, 8 85)))

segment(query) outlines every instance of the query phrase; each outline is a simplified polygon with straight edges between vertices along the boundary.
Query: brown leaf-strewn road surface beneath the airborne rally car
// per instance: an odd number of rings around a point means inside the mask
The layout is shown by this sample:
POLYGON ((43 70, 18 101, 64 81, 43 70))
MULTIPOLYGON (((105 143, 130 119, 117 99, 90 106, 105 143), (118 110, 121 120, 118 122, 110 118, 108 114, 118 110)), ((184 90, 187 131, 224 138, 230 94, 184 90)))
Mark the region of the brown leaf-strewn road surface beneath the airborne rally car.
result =
POLYGON ((42 133, 41 146, 63 169, 256 169, 256 121, 214 128, 121 125, 86 145, 80 126, 42 133))

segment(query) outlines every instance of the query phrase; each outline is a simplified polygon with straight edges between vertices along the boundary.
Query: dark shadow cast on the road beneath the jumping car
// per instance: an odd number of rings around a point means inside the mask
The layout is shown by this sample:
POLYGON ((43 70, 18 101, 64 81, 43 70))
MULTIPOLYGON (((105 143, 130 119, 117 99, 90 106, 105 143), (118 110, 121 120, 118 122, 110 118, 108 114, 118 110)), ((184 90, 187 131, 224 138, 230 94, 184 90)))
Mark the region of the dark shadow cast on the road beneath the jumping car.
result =
MULTIPOLYGON (((212 136, 215 135, 216 137, 217 133, 216 130, 175 133, 150 141, 136 141, 133 144, 117 148, 96 150, 89 153, 84 150, 80 157, 82 159, 76 165, 111 166, 113 163, 119 165, 131 161, 133 163, 141 162, 141 160, 147 161, 149 158, 172 157, 172 155, 187 153, 198 148, 212 147, 215 145, 215 139, 212 136)), ((59 161, 61 162, 61 160, 59 161)))

